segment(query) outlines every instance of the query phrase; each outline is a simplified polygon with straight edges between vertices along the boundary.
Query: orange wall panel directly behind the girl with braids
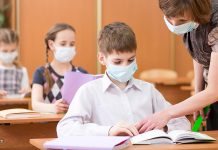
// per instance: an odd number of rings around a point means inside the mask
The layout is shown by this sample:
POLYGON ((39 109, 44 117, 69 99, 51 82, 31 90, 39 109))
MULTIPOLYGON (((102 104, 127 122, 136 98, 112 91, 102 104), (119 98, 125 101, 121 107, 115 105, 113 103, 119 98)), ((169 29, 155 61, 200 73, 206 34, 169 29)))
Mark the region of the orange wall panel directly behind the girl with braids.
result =
POLYGON ((58 22, 69 23, 76 29, 77 55, 73 63, 96 72, 95 0, 20 0, 19 3, 20 56, 30 76, 36 67, 45 64, 44 37, 58 22))

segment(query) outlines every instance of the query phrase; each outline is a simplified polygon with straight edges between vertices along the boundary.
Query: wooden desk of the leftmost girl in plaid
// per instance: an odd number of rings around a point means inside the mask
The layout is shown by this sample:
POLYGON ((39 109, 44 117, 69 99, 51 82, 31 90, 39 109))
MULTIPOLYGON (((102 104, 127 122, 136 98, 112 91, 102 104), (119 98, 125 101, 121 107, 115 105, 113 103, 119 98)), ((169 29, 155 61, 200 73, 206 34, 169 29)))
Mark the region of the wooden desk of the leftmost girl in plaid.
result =
POLYGON ((31 109, 31 98, 0 98, 0 110, 9 108, 31 109))

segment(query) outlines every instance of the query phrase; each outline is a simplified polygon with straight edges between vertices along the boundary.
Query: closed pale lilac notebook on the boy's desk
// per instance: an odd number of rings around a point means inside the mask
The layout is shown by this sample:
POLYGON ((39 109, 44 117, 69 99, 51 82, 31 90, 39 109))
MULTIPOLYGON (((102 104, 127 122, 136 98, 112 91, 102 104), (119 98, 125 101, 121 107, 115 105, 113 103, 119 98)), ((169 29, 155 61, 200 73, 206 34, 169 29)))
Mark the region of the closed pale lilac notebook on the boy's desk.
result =
POLYGON ((128 136, 71 136, 45 142, 43 146, 46 149, 118 150, 129 145, 128 136))

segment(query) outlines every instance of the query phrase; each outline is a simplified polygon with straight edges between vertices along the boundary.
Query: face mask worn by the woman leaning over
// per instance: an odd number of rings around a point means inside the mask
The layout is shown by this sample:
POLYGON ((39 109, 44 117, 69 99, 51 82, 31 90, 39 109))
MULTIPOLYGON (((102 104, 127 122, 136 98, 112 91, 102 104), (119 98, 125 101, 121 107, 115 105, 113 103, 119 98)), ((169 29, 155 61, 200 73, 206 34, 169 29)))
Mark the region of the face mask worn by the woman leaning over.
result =
POLYGON ((187 32, 191 32, 192 30, 197 29, 197 27, 199 26, 198 23, 193 22, 193 21, 190 21, 190 22, 178 25, 178 26, 174 26, 167 20, 166 16, 164 16, 164 21, 165 21, 168 29, 171 32, 178 34, 178 35, 181 35, 181 34, 184 34, 187 32))

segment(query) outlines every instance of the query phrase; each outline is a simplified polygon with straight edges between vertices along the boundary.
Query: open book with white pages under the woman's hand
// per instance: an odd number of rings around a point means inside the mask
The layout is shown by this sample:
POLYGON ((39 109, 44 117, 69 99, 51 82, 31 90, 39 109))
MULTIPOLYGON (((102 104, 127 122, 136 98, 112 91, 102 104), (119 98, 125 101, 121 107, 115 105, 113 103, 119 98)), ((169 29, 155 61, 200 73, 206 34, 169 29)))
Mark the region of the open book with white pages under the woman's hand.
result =
POLYGON ((212 142, 216 139, 202 133, 174 130, 168 134, 162 130, 151 130, 131 138, 132 144, 174 144, 212 142))

